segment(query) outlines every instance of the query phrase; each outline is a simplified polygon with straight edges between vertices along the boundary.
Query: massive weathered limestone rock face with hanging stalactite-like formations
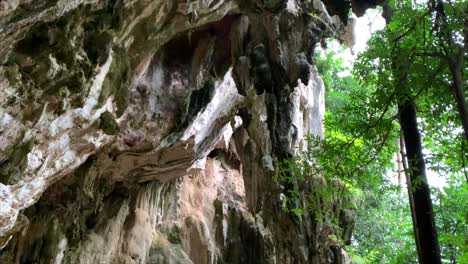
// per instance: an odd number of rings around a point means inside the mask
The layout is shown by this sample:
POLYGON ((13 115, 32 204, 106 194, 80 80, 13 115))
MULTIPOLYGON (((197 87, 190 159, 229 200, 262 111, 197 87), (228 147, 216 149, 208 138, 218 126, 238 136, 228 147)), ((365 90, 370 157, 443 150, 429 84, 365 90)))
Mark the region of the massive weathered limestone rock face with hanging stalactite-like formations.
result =
POLYGON ((328 2, 0 0, 0 263, 349 262, 273 180, 352 41, 328 2))

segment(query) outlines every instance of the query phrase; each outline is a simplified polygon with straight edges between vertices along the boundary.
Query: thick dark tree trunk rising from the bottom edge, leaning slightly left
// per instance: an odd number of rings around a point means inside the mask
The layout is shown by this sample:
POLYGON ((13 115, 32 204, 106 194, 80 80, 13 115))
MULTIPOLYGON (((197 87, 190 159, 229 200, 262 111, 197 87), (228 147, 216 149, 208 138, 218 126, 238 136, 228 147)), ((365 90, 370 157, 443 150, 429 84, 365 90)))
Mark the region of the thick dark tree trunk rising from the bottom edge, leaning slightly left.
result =
POLYGON ((412 196, 414 203, 411 213, 417 224, 415 240, 416 245, 418 245, 419 263, 439 264, 441 263, 439 242, 435 228, 431 192, 427 183, 421 135, 416 119, 416 107, 413 101, 405 100, 398 108, 410 175, 408 188, 412 194, 410 199, 412 196))

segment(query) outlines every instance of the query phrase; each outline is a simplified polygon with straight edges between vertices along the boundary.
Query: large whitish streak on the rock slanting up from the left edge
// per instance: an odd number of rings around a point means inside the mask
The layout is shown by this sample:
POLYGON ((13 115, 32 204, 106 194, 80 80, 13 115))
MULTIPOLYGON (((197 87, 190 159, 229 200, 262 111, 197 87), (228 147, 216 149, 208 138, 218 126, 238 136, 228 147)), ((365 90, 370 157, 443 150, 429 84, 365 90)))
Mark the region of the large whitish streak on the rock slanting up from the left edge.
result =
MULTIPOLYGON (((89 126, 109 107, 106 103, 96 109, 111 63, 112 52, 96 75, 82 109, 69 110, 50 123, 49 135, 45 135, 50 139, 35 146, 27 155, 24 178, 14 185, 0 184, 0 236, 14 226, 18 212, 31 206, 50 184, 73 172, 89 155, 111 141, 111 137, 101 131, 86 134, 89 126), (76 137, 70 138, 72 133, 76 137)), ((6 121, 2 122, 12 122, 4 116, 1 120, 6 118, 6 121)), ((38 125, 48 124, 47 118, 41 120, 44 121, 38 125)))

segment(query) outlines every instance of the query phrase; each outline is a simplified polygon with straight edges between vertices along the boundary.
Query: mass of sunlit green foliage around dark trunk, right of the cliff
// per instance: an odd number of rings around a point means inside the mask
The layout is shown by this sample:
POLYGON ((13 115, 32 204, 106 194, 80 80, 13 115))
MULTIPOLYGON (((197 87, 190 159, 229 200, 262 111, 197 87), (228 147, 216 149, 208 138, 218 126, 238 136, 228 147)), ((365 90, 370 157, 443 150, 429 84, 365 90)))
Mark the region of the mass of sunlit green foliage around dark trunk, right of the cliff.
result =
MULTIPOLYGON (((317 221, 339 230, 337 212, 357 211, 347 247, 354 262, 417 263, 408 195, 386 178, 398 151, 398 102, 403 96, 415 100, 428 168, 451 175, 448 187, 433 190, 442 257, 464 263, 468 151, 447 89, 449 69, 437 57, 421 55, 441 52, 427 12, 417 5, 404 7, 385 31, 374 34, 352 74, 335 52, 318 53, 317 69, 326 86, 326 135, 309 136, 305 150, 279 164, 277 180, 293 186, 285 193, 285 209, 300 217, 313 212, 317 221), (395 58, 401 61, 396 71, 395 58)), ((417 185, 418 179, 412 188, 417 185)))

